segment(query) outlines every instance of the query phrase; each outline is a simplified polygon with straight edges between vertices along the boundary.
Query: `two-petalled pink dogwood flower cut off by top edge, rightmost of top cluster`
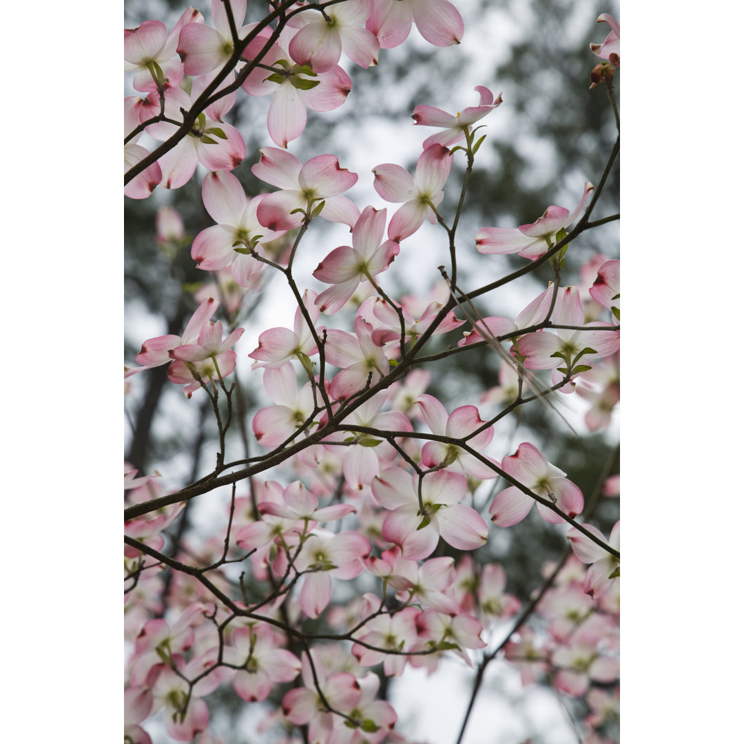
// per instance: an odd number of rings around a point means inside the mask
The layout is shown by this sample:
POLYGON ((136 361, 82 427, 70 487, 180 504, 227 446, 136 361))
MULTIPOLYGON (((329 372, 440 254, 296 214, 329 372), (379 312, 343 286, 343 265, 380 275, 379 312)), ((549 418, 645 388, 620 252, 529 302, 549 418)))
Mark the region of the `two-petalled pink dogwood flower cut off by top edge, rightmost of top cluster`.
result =
POLYGON ((462 39, 463 19, 448 0, 370 0, 370 4, 367 28, 377 36, 383 49, 403 44, 411 33, 412 22, 434 46, 451 46, 462 39))

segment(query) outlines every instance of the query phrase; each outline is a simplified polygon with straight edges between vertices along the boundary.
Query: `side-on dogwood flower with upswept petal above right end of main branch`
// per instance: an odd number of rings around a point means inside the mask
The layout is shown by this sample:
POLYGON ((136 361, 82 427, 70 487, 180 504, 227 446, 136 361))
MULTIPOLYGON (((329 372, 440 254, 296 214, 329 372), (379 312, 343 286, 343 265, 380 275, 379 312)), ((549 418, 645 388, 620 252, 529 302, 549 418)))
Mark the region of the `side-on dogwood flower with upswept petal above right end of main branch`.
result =
POLYGON ((481 228, 475 234, 475 247, 480 253, 519 253, 524 258, 536 260, 554 246, 556 233, 562 228, 568 228, 579 217, 593 190, 594 186, 587 181, 581 201, 571 213, 564 207, 551 206, 530 225, 519 225, 518 228, 481 228))

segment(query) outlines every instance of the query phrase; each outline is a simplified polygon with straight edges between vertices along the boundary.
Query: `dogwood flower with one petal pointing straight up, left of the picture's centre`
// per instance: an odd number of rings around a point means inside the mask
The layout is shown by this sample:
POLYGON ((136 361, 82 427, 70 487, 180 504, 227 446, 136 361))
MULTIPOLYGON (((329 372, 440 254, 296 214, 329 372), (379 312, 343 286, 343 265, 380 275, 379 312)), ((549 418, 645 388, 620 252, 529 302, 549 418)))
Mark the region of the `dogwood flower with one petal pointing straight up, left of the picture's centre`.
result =
POLYGON ((400 245, 394 240, 382 242, 387 214, 386 209, 366 207, 352 228, 352 245, 334 248, 318 263, 312 275, 333 284, 315 300, 321 312, 330 315, 341 310, 360 283, 372 280, 393 263, 400 245))

